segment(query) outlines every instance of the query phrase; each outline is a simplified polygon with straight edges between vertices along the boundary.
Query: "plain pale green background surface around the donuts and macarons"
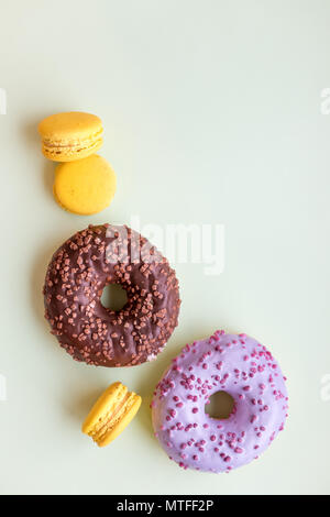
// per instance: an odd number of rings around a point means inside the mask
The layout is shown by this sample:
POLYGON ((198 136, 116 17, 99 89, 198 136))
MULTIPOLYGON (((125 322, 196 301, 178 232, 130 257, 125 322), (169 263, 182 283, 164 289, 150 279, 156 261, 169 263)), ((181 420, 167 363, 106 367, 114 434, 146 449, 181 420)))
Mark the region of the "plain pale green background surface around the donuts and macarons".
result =
POLYGON ((327 0, 1 2, 1 493, 329 493, 329 23, 327 0), (106 125, 119 188, 95 217, 52 198, 36 124, 65 110, 106 125), (155 363, 75 363, 43 319, 46 264, 76 230, 133 215, 162 228, 223 223, 224 272, 176 266, 180 324, 155 363), (218 328, 272 349, 289 419, 257 462, 185 472, 152 435, 148 396, 183 344, 218 328), (80 425, 116 380, 145 400, 99 450, 80 425))

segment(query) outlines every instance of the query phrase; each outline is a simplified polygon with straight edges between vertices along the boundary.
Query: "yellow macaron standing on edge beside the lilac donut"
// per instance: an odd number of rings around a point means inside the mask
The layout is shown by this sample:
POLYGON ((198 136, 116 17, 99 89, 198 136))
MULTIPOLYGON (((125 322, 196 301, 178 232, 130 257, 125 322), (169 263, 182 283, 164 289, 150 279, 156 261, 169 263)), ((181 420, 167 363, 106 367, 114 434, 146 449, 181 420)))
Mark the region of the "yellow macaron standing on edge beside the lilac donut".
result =
POLYGON ((141 397, 121 383, 113 383, 94 405, 82 424, 82 432, 99 447, 108 446, 136 415, 141 397))

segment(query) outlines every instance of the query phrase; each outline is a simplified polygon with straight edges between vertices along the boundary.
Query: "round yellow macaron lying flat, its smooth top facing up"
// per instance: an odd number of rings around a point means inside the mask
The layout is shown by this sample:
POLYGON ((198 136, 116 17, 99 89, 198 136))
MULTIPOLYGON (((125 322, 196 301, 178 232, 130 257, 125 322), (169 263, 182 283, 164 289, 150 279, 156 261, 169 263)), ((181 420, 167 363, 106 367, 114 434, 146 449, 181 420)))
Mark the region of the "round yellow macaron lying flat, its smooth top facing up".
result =
POLYGON ((73 213, 100 212, 110 205, 116 187, 114 172, 107 160, 97 154, 57 165, 55 169, 55 200, 73 213))

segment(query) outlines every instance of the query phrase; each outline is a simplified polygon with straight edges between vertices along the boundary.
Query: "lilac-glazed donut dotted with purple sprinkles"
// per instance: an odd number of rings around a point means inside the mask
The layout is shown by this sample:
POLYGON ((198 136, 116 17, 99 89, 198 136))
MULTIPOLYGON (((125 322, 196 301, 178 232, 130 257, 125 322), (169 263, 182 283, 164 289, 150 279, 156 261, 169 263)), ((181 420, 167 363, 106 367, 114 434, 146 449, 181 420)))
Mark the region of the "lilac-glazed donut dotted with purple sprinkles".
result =
POLYGON ((271 352, 246 334, 218 330, 173 360, 154 392, 153 427, 179 466, 229 472, 267 449, 284 429, 287 403, 285 377, 271 352), (221 420, 205 413, 220 391, 234 400, 221 420))

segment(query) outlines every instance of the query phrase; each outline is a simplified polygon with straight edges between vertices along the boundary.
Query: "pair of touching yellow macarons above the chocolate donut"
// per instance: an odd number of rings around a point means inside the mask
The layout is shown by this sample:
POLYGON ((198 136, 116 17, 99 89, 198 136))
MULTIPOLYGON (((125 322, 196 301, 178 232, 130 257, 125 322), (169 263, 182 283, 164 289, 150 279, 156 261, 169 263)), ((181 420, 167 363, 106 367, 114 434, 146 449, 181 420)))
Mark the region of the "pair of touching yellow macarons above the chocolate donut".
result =
POLYGON ((73 213, 90 216, 107 208, 117 180, 109 163, 96 155, 102 143, 102 121, 95 114, 70 111, 47 117, 38 124, 42 152, 53 162, 54 197, 73 213))

